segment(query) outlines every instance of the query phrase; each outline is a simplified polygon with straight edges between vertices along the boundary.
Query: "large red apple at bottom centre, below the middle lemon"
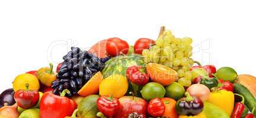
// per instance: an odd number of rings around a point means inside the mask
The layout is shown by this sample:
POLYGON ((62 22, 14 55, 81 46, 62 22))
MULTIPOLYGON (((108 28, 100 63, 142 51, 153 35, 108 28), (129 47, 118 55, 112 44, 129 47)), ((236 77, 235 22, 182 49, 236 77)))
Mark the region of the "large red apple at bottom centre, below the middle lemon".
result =
POLYGON ((140 97, 123 96, 119 99, 121 109, 114 118, 127 118, 130 113, 137 112, 146 118, 147 102, 140 97))

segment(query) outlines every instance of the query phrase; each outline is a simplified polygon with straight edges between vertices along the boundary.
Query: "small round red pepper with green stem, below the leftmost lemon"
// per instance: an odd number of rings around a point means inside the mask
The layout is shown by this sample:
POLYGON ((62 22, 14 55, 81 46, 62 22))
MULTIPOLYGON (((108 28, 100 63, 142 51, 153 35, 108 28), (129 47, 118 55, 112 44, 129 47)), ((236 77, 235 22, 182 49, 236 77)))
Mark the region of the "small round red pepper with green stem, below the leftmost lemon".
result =
POLYGON ((36 90, 18 90, 14 94, 14 99, 19 107, 30 109, 37 104, 39 92, 36 90))

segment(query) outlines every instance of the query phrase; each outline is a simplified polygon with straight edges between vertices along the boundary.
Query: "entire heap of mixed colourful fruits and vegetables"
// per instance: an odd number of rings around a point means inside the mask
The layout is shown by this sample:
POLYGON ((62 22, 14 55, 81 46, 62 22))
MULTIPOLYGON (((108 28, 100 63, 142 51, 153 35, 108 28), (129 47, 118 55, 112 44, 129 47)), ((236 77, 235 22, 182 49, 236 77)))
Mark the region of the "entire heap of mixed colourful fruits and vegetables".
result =
POLYGON ((157 40, 109 38, 14 78, 0 118, 253 118, 256 78, 201 65, 192 39, 161 27, 157 40))

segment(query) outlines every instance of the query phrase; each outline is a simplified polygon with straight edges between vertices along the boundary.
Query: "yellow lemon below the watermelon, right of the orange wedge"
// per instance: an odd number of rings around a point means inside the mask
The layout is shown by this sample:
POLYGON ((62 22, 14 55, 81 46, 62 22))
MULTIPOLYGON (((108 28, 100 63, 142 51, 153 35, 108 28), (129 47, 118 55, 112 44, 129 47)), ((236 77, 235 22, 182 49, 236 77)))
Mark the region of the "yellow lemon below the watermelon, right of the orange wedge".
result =
POLYGON ((113 96, 116 98, 124 96, 128 90, 127 78, 120 74, 108 76, 100 83, 101 96, 113 96))

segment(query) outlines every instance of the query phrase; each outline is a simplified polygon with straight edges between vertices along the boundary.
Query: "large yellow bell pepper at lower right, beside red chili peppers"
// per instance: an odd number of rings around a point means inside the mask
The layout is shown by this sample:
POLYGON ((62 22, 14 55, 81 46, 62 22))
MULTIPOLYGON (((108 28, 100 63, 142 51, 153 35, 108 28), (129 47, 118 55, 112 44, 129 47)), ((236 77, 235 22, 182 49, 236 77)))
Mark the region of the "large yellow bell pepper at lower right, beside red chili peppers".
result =
POLYGON ((223 109, 231 116, 233 112, 233 106, 235 102, 235 96, 231 91, 217 90, 210 93, 210 97, 207 100, 209 103, 223 109))

